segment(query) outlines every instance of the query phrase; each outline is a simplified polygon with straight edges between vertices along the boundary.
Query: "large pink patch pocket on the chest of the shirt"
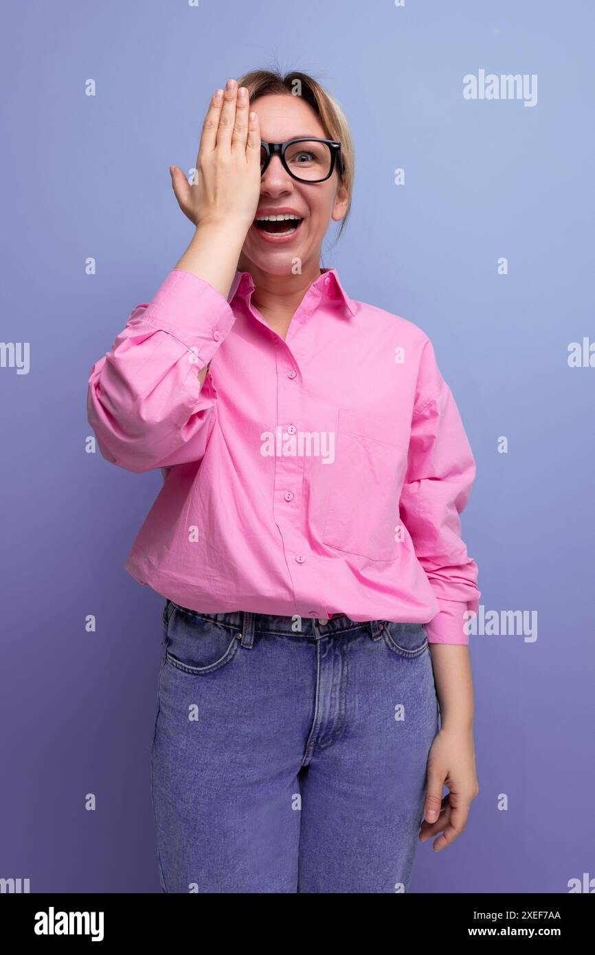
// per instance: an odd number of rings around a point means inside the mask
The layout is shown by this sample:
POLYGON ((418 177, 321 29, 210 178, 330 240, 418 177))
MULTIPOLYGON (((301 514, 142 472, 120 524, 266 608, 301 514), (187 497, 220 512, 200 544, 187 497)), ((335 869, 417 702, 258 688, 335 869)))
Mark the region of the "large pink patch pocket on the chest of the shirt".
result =
POLYGON ((395 560, 408 448, 392 418, 339 408, 323 543, 372 561, 395 560))

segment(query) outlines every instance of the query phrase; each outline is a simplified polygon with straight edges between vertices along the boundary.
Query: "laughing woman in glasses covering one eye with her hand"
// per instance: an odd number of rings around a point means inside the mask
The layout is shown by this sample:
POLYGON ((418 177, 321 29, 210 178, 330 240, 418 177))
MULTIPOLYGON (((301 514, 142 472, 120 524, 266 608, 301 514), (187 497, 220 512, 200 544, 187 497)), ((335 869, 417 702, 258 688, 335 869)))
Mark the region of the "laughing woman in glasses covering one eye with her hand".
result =
POLYGON ((471 449, 427 336, 319 266, 353 151, 315 80, 230 79, 170 173, 196 230, 88 398, 164 477, 126 562, 166 598, 161 890, 404 892, 478 794, 471 449))

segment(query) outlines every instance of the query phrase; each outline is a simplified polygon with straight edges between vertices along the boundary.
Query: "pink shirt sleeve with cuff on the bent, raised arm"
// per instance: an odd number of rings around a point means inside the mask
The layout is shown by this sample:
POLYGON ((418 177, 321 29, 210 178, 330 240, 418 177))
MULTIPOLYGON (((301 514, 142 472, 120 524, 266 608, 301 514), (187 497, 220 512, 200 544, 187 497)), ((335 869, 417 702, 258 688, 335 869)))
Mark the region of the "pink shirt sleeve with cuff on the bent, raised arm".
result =
POLYGON ((223 295, 182 269, 134 308, 89 375, 88 420, 107 460, 141 472, 202 458, 217 402, 199 372, 234 321, 223 295))

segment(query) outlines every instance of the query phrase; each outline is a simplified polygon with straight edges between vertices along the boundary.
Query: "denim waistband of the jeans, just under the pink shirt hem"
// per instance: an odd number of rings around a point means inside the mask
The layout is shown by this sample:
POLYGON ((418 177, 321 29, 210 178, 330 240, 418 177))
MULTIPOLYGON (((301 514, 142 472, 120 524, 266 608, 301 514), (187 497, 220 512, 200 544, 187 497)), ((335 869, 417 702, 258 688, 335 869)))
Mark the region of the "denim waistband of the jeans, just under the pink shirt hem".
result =
MULTIPOLYGON (((329 635, 332 633, 341 633, 347 630, 355 630, 360 627, 372 628, 375 634, 378 629, 378 621, 355 621, 351 620, 346 614, 335 614, 329 618, 328 623, 321 624, 318 617, 299 617, 297 614, 293 617, 282 617, 270 613, 252 613, 247 610, 230 610, 225 613, 202 613, 199 610, 190 610, 187 607, 176 604, 174 601, 168 601, 168 605, 173 605, 188 614, 190 617, 196 617, 199 620, 209 620, 215 624, 232 626, 237 630, 244 631, 246 627, 252 633, 295 633, 306 636, 319 636, 320 634, 329 635)), ((167 616, 167 606, 165 610, 167 616)), ((327 618, 322 618, 327 619, 327 618)))

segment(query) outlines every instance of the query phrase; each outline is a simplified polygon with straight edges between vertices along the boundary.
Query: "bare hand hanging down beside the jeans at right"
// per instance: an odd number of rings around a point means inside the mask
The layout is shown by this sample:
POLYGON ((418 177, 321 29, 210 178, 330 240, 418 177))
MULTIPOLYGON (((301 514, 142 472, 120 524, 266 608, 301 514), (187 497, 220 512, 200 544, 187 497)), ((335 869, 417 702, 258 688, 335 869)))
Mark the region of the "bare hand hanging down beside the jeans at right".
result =
POLYGON ((443 726, 428 756, 428 787, 419 840, 425 842, 440 833, 433 845, 435 852, 451 845, 465 828, 478 792, 473 730, 443 726), (450 790, 444 798, 443 786, 450 790))

